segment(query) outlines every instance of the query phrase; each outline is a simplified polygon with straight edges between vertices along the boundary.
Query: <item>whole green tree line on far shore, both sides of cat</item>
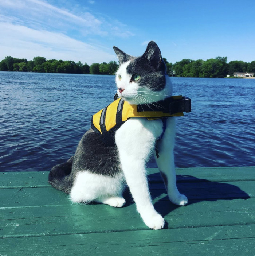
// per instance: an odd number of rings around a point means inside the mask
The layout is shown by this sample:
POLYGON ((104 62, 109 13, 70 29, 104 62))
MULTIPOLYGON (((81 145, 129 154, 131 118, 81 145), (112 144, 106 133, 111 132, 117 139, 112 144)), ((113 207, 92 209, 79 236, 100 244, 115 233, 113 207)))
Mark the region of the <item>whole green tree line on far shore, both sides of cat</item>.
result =
MULTIPOLYGON (((178 77, 226 77, 232 76, 234 72, 255 73, 255 61, 230 61, 227 57, 216 57, 203 61, 198 59, 183 59, 176 63, 166 63, 167 74, 178 77)), ((42 73, 73 73, 73 74, 109 74, 114 75, 118 69, 116 61, 109 63, 92 63, 90 66, 81 61, 62 61, 56 59, 46 60, 44 57, 34 57, 32 61, 18 59, 11 56, 5 57, 0 62, 0 71, 19 71, 19 72, 42 72, 42 73)))

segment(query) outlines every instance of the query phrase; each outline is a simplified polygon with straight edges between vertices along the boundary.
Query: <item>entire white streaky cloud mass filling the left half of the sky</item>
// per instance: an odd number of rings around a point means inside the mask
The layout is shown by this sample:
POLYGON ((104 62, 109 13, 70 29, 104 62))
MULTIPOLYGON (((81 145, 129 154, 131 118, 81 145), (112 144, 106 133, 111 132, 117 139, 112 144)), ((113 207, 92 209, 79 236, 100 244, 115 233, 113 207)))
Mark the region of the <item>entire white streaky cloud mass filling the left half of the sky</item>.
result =
POLYGON ((134 34, 118 20, 98 13, 96 16, 81 5, 70 10, 46 0, 0 0, 0 61, 7 55, 88 64, 114 60, 113 50, 102 39, 134 34), (86 42, 102 42, 102 46, 86 42))

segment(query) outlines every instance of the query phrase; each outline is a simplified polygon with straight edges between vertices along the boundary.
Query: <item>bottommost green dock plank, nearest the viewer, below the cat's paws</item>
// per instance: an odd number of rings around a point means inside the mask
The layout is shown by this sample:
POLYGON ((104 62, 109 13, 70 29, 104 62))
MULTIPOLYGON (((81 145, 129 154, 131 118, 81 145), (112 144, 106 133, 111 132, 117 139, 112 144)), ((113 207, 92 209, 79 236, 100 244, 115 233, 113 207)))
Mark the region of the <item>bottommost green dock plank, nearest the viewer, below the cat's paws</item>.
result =
POLYGON ((254 255, 255 225, 1 240, 1 255, 254 255))

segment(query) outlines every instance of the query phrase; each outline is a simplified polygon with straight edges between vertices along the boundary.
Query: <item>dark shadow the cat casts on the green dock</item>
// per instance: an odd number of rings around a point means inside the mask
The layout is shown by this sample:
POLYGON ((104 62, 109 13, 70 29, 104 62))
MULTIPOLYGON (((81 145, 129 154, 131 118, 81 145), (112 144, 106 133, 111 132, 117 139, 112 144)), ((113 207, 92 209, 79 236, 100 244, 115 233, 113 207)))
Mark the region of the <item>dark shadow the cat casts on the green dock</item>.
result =
MULTIPOLYGON (((164 183, 159 173, 148 175, 150 182, 150 192, 155 209, 164 217, 168 213, 177 209, 178 206, 169 201, 166 194, 164 183), (163 197, 162 197, 163 195, 163 197)), ((181 194, 188 198, 188 205, 202 201, 217 201, 217 200, 234 200, 234 199, 249 199, 250 196, 239 187, 224 183, 209 181, 207 179, 199 179, 191 175, 177 175, 177 187, 181 194)))

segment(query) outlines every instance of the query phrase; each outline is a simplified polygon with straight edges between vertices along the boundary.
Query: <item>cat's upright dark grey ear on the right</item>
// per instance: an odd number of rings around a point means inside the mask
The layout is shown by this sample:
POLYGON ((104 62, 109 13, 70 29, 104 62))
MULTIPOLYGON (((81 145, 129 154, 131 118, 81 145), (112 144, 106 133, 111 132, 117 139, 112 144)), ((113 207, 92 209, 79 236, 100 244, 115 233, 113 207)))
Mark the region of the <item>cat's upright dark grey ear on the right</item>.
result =
POLYGON ((162 66, 162 64, 164 64, 162 63, 161 51, 157 44, 153 41, 150 41, 148 43, 147 49, 145 53, 142 55, 142 57, 147 58, 150 64, 156 67, 156 69, 159 69, 162 66))

